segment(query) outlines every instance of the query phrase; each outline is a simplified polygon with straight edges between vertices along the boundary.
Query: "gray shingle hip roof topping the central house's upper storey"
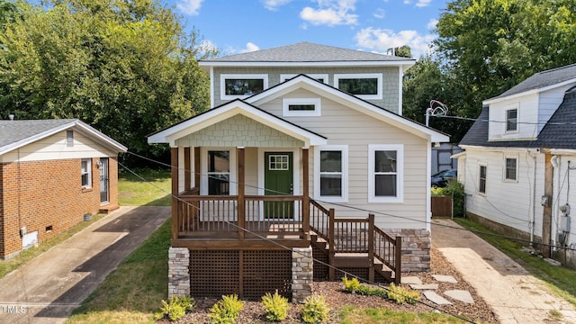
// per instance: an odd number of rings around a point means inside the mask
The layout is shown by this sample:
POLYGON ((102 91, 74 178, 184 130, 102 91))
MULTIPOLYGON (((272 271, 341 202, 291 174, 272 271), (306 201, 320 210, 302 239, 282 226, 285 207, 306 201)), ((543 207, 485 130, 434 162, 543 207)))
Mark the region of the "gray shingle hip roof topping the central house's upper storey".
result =
POLYGON ((229 55, 221 58, 201 60, 211 62, 357 62, 357 61, 411 61, 411 58, 399 58, 355 49, 342 49, 333 46, 300 42, 273 49, 229 55))

